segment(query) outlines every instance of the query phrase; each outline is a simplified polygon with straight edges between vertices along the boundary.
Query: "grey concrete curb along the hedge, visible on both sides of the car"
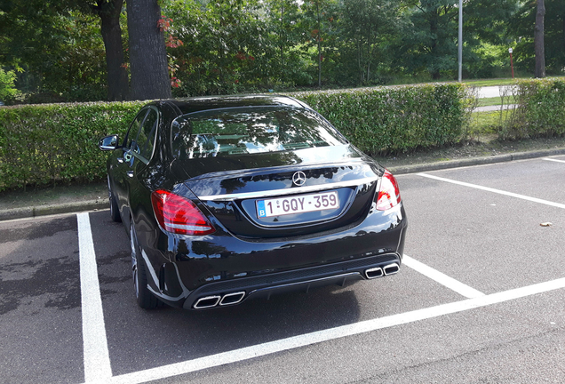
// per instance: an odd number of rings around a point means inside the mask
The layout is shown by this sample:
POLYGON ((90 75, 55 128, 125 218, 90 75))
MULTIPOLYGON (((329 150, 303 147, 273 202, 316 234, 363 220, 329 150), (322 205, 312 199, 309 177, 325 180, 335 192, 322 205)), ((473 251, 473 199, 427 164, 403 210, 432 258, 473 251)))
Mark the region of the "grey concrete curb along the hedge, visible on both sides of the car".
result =
MULTIPOLYGON (((544 150, 537 150, 531 152, 516 152, 512 154, 496 155, 496 156, 473 157, 468 159, 450 160, 450 161, 428 163, 428 164, 399 165, 399 166, 390 167, 388 168, 388 170, 390 172, 393 172, 395 175, 398 175, 398 174, 407 174, 407 173, 438 171, 438 170, 460 168, 460 167, 466 167, 472 165, 505 163, 515 160, 526 160, 530 158, 556 156, 556 155, 565 155, 565 148, 544 149, 544 150)), ((36 216, 46 216, 46 215, 59 214, 59 213, 97 211, 107 208, 108 206, 106 199, 80 201, 80 202, 66 203, 66 204, 39 205, 36 207, 26 207, 26 208, 14 208, 14 209, 0 211, 0 221, 26 219, 26 218, 33 218, 36 216)))

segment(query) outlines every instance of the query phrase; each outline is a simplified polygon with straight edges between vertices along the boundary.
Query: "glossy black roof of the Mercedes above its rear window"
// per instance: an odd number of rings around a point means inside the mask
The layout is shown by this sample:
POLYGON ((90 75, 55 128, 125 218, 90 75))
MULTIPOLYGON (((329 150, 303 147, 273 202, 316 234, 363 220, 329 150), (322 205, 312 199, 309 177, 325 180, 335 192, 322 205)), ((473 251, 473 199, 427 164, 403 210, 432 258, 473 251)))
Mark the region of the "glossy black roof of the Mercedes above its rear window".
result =
POLYGON ((237 107, 298 107, 309 108, 306 104, 293 99, 289 96, 277 94, 252 94, 252 95, 231 95, 231 96, 203 96, 194 98, 166 100, 167 103, 179 109, 181 115, 189 113, 237 107))

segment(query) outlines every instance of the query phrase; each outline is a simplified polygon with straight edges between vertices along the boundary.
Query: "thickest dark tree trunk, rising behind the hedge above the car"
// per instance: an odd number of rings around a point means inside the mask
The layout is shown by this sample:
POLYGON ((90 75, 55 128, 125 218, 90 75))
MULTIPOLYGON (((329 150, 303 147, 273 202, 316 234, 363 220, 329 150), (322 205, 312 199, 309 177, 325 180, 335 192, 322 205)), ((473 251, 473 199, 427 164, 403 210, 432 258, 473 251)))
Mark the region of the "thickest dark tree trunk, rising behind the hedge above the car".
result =
POLYGON ((171 80, 157 0, 128 0, 131 100, 171 98, 171 80))

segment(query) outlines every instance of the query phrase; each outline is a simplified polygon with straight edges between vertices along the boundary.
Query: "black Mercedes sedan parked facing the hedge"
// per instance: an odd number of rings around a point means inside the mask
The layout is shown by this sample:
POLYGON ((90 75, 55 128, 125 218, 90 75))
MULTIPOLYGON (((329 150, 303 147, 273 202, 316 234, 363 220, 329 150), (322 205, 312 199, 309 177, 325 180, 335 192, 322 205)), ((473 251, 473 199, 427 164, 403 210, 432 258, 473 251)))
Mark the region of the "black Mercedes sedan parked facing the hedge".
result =
POLYGON ((394 176, 299 100, 154 101, 99 148, 142 308, 230 306, 401 267, 394 176))

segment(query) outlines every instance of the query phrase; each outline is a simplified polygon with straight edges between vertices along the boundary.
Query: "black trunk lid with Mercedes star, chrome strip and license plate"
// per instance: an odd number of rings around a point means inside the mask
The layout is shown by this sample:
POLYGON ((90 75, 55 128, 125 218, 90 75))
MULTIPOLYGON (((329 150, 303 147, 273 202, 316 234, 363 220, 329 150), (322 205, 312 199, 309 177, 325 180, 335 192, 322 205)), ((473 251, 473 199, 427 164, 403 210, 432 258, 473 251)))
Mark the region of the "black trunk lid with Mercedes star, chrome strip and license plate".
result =
POLYGON ((246 238, 354 226, 369 212, 382 173, 348 145, 191 159, 171 170, 227 230, 246 238))

